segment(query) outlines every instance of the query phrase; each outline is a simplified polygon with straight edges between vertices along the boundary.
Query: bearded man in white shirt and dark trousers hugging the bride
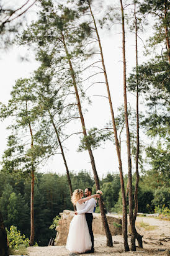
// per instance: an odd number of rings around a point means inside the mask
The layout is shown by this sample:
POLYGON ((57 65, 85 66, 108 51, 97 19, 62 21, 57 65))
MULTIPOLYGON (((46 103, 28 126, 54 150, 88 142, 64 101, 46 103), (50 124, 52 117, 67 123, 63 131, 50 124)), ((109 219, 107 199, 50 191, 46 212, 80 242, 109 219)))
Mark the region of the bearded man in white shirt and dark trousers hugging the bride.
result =
MULTIPOLYGON (((84 190, 84 194, 86 197, 91 196, 91 194, 92 194, 91 188, 86 188, 86 190, 84 190)), ((91 235, 91 244, 92 244, 91 250, 87 251, 86 253, 93 254, 94 253, 94 235, 92 232, 92 219, 93 219, 92 213, 94 211, 96 201, 94 198, 91 198, 88 201, 86 201, 85 204, 86 204, 85 208, 81 211, 76 211, 75 214, 77 215, 77 214, 85 213, 85 215, 86 215, 86 221, 87 221, 87 225, 89 227, 89 234, 91 235)))

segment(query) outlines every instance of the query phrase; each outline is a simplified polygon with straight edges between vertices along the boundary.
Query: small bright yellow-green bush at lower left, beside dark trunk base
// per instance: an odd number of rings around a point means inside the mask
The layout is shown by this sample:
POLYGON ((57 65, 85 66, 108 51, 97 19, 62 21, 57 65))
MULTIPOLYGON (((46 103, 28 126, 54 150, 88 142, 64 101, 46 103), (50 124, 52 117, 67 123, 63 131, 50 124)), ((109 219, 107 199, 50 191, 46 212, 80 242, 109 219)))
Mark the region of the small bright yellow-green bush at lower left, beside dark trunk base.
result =
POLYGON ((24 244, 25 247, 29 246, 29 239, 25 238, 25 235, 21 235, 20 231, 17 231, 17 227, 11 226, 7 232, 7 240, 10 248, 19 249, 19 245, 24 244))

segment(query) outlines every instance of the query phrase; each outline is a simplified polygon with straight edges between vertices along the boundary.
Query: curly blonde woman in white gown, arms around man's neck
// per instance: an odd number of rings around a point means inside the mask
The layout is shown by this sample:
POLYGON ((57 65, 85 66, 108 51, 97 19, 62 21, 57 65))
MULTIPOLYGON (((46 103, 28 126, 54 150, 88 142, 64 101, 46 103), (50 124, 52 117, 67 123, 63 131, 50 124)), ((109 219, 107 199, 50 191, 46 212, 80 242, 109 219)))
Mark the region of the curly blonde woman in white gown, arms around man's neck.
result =
MULTIPOLYGON (((84 209, 87 200, 91 198, 99 198, 99 194, 93 194, 87 198, 83 198, 83 190, 74 190, 71 201, 76 205, 77 211, 84 209)), ((86 222, 85 214, 75 215, 69 224, 69 233, 66 242, 66 249, 69 252, 84 253, 91 250, 91 236, 86 222)))

